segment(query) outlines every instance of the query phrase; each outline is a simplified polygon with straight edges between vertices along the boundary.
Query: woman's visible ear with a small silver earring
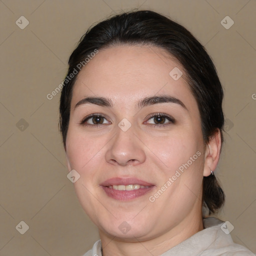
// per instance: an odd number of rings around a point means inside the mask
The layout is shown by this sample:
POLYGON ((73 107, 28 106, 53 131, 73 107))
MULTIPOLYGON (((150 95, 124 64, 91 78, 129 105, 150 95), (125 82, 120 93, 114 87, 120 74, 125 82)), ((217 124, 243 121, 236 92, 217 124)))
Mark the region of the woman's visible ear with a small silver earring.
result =
POLYGON ((203 176, 209 176, 211 174, 210 171, 214 171, 216 168, 219 159, 220 148, 221 135, 219 128, 217 128, 214 134, 209 138, 209 142, 205 148, 203 176))

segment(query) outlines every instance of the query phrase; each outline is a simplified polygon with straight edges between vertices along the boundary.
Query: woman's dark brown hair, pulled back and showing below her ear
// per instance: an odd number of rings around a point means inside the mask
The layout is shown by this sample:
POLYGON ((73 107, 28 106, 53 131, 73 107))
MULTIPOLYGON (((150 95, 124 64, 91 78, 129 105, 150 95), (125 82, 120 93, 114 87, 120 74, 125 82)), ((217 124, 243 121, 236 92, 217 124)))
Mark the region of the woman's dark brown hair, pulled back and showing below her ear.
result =
MULTIPOLYGON (((223 140, 223 90, 211 58, 187 29, 159 13, 149 10, 125 12, 88 29, 69 57, 66 77, 95 49, 120 44, 154 45, 174 56, 183 66, 187 83, 196 99, 204 143, 209 141, 217 129, 220 130, 221 141, 223 140)), ((60 96, 59 126, 64 147, 72 88, 77 73, 72 79, 64 80, 60 96)), ((224 203, 224 193, 215 175, 203 177, 202 203, 209 213, 216 212, 224 203)))

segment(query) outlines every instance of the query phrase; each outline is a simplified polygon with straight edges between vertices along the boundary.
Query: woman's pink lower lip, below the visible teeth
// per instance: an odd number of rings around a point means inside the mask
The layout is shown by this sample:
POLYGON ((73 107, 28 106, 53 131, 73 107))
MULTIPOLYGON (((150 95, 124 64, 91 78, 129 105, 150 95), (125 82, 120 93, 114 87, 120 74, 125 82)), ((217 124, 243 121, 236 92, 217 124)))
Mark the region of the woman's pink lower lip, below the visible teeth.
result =
POLYGON ((112 197, 116 200, 121 200, 121 201, 135 199, 139 196, 142 196, 148 193, 153 188, 153 186, 149 186, 149 187, 144 187, 144 188, 139 188, 134 190, 117 190, 117 189, 110 188, 108 186, 101 186, 101 187, 109 197, 112 197))

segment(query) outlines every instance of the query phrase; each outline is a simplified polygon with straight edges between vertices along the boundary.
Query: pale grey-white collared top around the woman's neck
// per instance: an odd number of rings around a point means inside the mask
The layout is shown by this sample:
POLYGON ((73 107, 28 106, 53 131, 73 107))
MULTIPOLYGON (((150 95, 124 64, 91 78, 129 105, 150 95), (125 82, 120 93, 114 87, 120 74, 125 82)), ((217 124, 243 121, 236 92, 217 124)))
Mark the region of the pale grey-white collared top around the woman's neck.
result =
MULTIPOLYGON (((234 243, 231 235, 226 234, 224 222, 215 218, 203 219, 204 229, 190 236, 186 240, 165 251, 160 256, 255 256, 242 245, 234 243)), ((91 250, 83 256, 102 256, 101 241, 94 243, 91 250)))

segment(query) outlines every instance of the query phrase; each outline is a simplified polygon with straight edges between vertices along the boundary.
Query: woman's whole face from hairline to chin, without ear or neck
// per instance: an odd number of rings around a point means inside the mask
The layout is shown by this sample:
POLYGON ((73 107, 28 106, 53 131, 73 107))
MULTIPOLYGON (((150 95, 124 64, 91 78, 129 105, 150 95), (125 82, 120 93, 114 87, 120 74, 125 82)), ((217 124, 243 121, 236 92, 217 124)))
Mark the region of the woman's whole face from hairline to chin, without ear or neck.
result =
POLYGON ((156 46, 99 50, 81 69, 66 155, 101 233, 146 240, 201 212, 199 110, 182 66, 156 46))

